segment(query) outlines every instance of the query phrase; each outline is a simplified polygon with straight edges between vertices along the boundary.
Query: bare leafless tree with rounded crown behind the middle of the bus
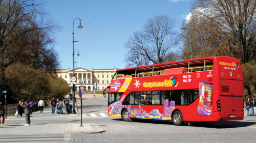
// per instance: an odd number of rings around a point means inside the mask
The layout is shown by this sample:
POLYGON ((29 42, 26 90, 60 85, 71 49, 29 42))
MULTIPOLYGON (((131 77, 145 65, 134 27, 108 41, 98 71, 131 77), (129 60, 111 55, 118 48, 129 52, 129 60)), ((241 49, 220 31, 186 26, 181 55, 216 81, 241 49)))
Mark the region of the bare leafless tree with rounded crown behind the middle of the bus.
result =
POLYGON ((180 40, 173 30, 174 24, 174 19, 167 15, 148 19, 143 30, 134 32, 125 43, 128 66, 165 62, 170 49, 177 46, 180 40))

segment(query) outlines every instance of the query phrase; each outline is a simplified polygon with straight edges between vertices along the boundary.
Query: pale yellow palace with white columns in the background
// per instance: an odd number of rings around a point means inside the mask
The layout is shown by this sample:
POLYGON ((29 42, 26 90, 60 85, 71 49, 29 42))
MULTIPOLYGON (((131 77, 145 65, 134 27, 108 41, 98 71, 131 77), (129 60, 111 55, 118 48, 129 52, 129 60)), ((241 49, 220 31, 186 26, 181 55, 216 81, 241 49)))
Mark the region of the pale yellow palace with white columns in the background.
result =
MULTIPOLYGON (((75 69, 76 89, 83 91, 103 90, 110 85, 111 79, 114 76, 116 69, 75 69)), ((66 80, 71 87, 71 80, 73 70, 56 70, 56 76, 66 80)))

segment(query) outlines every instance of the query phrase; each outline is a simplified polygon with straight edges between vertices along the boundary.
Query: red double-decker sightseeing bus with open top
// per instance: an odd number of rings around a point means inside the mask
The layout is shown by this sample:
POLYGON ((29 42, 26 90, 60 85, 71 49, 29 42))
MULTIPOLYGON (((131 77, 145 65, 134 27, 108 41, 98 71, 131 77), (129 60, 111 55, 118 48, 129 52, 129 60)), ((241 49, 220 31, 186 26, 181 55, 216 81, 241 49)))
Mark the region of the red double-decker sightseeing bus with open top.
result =
POLYGON ((244 119, 240 61, 227 56, 118 69, 108 113, 137 119, 212 122, 244 119))

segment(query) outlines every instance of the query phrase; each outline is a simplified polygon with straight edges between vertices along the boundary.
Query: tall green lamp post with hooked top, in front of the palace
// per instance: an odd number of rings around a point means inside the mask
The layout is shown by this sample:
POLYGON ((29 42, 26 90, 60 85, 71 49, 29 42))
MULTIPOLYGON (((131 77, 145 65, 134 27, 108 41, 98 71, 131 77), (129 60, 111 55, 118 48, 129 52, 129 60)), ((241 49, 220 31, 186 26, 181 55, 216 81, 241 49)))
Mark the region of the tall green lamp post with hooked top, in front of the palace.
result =
MULTIPOLYGON (((74 21, 73 21, 73 33, 72 33, 72 35, 73 35, 73 76, 75 76, 75 51, 74 51, 74 42, 77 42, 77 41, 74 41, 74 22, 75 22, 75 20, 76 19, 79 19, 80 21, 79 21, 79 25, 78 25, 78 28, 79 28, 79 30, 81 30, 81 28, 82 28, 82 25, 81 25, 81 19, 80 18, 75 18, 74 19, 74 21)), ((73 98, 72 98, 72 100, 73 100, 73 106, 72 106, 72 113, 76 113, 76 110, 75 110, 75 91, 74 91, 74 89, 72 89, 73 90, 73 98)))

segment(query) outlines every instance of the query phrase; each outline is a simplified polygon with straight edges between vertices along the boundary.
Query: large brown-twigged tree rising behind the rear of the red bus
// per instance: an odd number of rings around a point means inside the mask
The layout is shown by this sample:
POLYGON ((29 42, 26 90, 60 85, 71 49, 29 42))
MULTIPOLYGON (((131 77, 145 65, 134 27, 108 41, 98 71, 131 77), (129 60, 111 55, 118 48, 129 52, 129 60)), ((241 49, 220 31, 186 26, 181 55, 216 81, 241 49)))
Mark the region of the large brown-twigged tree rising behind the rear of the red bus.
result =
POLYGON ((197 0, 190 19, 193 55, 228 55, 242 63, 256 59, 255 9, 250 0, 197 0))

